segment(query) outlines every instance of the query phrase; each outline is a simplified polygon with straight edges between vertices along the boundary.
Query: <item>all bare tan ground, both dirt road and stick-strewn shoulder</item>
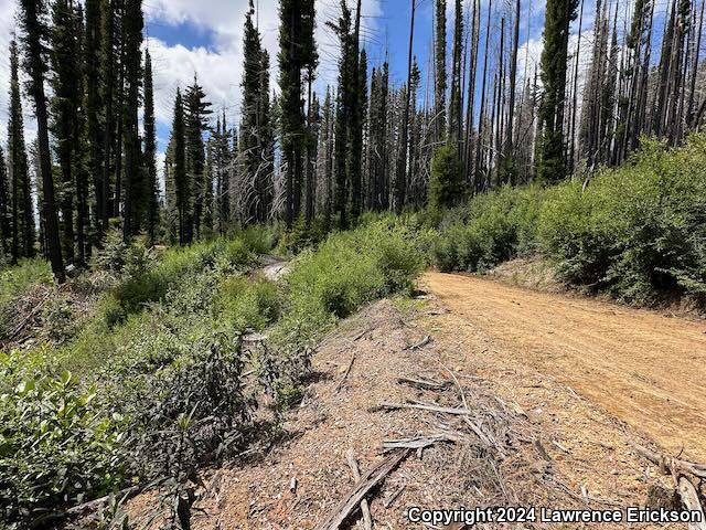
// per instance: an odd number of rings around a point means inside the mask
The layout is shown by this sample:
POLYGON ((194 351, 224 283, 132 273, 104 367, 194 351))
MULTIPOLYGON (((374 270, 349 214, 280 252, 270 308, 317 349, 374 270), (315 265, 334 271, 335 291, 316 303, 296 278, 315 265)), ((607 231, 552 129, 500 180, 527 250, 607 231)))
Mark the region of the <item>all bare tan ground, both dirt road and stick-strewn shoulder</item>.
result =
MULTIPOLYGON (((400 455, 368 495, 374 528, 387 529, 464 528, 410 523, 414 506, 656 507, 671 479, 634 444, 706 459, 704 324, 464 275, 428 273, 420 288, 322 341, 284 439, 203 473, 192 528, 329 528, 317 524, 349 498, 351 457, 365 477, 400 455)), ((133 499, 131 520, 159 528, 160 499, 133 499)), ((347 523, 363 528, 361 510, 347 523)))

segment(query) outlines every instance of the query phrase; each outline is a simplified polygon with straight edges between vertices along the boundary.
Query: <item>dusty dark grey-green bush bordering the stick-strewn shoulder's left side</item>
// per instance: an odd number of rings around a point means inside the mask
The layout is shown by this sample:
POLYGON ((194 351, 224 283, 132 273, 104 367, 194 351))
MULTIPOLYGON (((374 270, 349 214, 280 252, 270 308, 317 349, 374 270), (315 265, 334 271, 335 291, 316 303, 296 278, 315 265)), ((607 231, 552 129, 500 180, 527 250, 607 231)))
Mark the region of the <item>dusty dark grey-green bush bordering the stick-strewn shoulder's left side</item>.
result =
POLYGON ((118 372, 108 392, 117 399, 106 400, 106 406, 127 418, 124 452, 136 476, 190 475, 199 464, 242 446, 255 406, 243 393, 244 362, 239 342, 216 333, 185 344, 181 356, 154 371, 142 373, 140 363, 118 372))

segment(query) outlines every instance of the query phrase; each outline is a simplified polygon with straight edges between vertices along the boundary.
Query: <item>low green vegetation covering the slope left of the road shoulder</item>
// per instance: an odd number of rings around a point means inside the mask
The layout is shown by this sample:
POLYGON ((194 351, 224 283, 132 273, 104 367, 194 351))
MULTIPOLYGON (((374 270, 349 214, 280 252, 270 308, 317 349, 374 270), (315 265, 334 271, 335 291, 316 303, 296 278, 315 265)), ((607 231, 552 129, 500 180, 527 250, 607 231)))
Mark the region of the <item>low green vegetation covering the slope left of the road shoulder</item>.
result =
POLYGON ((411 221, 372 220, 275 284, 258 273, 278 242, 265 229, 161 252, 113 240, 89 273, 104 288, 93 312, 61 341, 0 356, 0 517, 22 528, 133 484, 183 484, 272 436, 315 340, 410 289, 429 241, 411 221))

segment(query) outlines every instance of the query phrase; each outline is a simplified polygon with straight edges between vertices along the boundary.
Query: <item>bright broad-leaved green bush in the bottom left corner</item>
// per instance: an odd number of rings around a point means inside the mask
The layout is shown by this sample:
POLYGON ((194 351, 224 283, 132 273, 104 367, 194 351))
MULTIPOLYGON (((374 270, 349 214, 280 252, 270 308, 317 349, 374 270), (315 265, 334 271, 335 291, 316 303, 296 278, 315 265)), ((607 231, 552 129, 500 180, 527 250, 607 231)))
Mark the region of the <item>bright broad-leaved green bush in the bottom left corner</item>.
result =
POLYGON ((125 480, 119 418, 100 413, 97 388, 71 372, 23 367, 4 356, 0 375, 0 515, 34 519, 46 508, 100 496, 125 480))

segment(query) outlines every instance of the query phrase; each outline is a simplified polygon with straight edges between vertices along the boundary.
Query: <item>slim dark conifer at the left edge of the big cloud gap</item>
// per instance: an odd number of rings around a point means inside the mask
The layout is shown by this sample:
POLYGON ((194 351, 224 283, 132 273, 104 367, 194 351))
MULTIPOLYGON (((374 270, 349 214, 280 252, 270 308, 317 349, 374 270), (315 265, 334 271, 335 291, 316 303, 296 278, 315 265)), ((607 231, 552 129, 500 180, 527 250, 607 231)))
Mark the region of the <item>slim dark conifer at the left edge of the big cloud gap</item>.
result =
POLYGON ((159 182, 157 177, 157 126, 154 120, 154 88, 152 82, 152 57, 145 50, 145 174, 147 235, 150 242, 157 239, 159 227, 159 182))

